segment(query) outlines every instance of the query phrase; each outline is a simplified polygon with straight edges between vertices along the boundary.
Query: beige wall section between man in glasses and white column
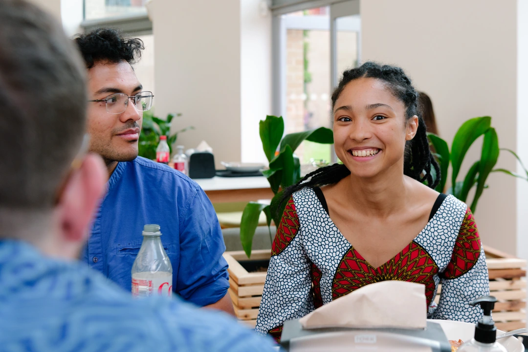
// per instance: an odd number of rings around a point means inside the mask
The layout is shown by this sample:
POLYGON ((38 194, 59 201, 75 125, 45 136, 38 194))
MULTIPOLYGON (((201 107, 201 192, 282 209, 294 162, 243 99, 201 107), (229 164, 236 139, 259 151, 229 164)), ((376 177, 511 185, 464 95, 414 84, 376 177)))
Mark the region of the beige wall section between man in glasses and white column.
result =
POLYGON ((181 112, 185 148, 205 140, 215 163, 240 160, 239 1, 156 0, 155 113, 181 112))

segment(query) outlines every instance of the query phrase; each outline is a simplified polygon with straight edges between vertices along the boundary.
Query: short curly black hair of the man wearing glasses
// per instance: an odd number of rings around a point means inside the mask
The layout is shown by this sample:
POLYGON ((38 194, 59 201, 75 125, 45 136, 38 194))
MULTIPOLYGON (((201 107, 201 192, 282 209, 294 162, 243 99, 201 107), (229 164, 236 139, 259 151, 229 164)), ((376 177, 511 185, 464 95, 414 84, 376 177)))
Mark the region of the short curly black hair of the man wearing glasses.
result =
POLYGON ((90 33, 79 34, 74 41, 88 69, 98 61, 126 61, 133 65, 141 59, 141 51, 145 49, 142 40, 124 38, 121 33, 111 28, 97 28, 90 33))

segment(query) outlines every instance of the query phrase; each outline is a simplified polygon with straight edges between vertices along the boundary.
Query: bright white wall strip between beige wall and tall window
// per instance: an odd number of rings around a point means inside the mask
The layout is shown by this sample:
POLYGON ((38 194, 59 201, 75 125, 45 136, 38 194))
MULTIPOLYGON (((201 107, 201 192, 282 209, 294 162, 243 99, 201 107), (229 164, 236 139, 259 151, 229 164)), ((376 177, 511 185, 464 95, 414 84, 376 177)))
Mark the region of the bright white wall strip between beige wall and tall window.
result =
POLYGON ((267 163, 259 135, 259 121, 271 114, 271 13, 266 2, 240 0, 240 27, 241 161, 267 163))

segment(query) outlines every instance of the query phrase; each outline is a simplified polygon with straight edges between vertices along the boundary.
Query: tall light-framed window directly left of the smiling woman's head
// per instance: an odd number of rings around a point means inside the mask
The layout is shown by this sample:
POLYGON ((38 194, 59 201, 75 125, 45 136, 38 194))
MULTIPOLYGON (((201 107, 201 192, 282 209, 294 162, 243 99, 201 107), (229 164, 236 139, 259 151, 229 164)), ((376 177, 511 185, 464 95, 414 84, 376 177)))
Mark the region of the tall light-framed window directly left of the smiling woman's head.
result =
MULTIPOLYGON (((331 128, 332 90, 360 58, 357 1, 281 13, 274 26, 274 110, 285 119, 285 133, 331 128)), ((295 154, 301 164, 335 161, 332 146, 309 141, 295 154)))

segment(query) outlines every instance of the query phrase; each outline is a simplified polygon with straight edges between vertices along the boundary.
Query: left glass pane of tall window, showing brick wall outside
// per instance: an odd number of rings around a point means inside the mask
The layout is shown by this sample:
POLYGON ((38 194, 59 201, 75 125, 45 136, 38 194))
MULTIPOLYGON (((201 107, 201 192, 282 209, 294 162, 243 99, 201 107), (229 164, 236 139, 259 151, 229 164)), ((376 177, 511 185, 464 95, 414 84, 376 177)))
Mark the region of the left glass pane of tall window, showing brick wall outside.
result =
MULTIPOLYGON (((295 29, 286 31, 286 133, 331 127, 328 8, 285 15, 293 16, 304 18, 295 22, 295 29), (322 20, 326 21, 326 25, 321 25, 322 20)), ((295 154, 301 164, 308 164, 310 159, 329 162, 331 146, 305 141, 295 154)))

